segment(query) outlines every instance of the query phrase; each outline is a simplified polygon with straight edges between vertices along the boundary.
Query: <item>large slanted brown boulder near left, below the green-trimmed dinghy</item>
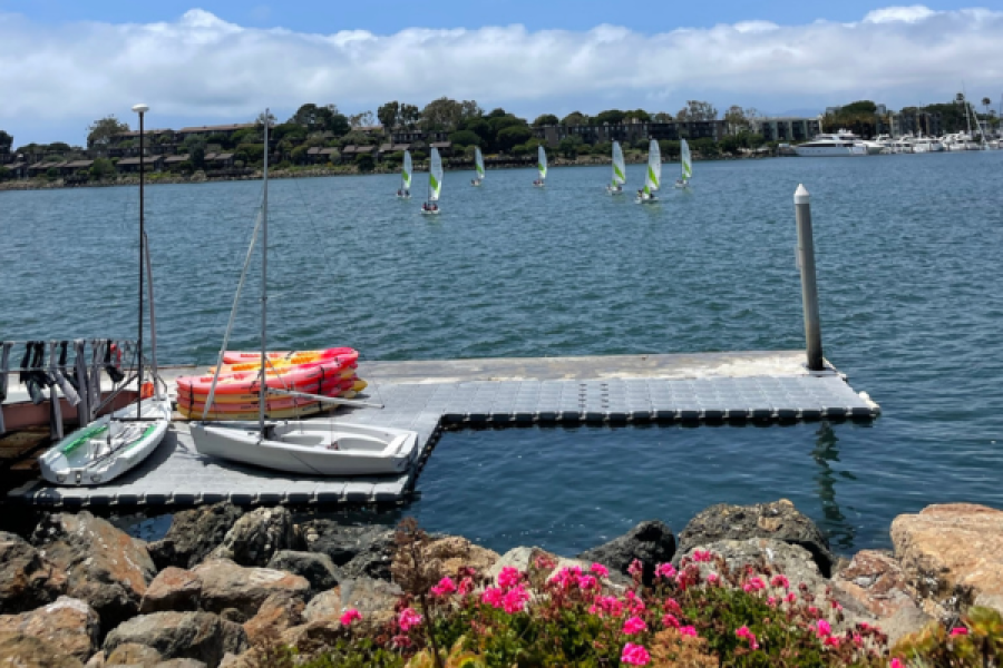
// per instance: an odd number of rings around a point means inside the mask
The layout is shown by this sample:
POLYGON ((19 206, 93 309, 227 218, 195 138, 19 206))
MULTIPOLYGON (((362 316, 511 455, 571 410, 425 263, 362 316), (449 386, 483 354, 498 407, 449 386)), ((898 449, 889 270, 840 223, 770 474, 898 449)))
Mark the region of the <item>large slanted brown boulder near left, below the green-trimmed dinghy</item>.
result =
POLYGON ((103 629, 139 611, 139 601, 156 573, 145 542, 87 511, 48 515, 39 522, 31 542, 67 573, 67 596, 97 610, 103 629))

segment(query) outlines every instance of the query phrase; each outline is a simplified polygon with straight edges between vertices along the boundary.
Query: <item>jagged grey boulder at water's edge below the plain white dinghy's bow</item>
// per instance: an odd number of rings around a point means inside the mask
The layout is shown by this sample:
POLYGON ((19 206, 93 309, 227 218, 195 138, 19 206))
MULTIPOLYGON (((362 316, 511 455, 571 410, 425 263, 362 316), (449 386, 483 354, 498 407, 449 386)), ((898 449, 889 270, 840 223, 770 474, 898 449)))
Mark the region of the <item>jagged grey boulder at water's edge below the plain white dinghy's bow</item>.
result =
POLYGON ((265 566, 280 550, 302 544, 289 509, 259 508, 242 515, 210 557, 231 559, 241 566, 265 566))

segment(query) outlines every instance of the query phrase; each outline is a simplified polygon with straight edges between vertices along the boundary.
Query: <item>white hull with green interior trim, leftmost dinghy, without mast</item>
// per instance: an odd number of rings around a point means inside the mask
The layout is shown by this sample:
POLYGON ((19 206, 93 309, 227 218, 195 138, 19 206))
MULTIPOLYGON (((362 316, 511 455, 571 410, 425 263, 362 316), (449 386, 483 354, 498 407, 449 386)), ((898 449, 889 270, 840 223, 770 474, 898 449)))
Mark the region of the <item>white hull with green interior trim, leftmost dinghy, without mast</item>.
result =
POLYGON ((140 415, 150 422, 129 421, 135 415, 136 406, 129 405, 76 430, 39 458, 41 477, 56 484, 94 487, 134 469, 164 440, 171 425, 171 402, 144 399, 140 415), (114 436, 116 430, 134 426, 140 429, 139 438, 113 451, 101 450, 108 430, 114 436))

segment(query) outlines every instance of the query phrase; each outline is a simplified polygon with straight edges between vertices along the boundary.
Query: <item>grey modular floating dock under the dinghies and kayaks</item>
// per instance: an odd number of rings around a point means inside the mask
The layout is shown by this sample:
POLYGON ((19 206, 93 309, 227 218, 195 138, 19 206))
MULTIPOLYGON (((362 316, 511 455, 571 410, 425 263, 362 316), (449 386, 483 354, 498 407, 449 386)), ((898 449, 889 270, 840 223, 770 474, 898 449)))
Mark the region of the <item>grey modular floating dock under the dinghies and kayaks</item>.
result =
MULTIPOLYGON (((204 367, 173 367, 179 375, 204 367)), ((36 480, 11 501, 52 508, 255 504, 389 504, 406 501, 449 425, 518 426, 647 422, 873 420, 880 409, 826 364, 811 372, 804 351, 363 362, 369 401, 339 420, 411 429, 419 452, 409 471, 380 478, 306 478, 253 469, 195 452, 176 421, 149 459, 114 483, 53 487, 36 480)), ((330 416, 329 416, 330 418, 330 416)))

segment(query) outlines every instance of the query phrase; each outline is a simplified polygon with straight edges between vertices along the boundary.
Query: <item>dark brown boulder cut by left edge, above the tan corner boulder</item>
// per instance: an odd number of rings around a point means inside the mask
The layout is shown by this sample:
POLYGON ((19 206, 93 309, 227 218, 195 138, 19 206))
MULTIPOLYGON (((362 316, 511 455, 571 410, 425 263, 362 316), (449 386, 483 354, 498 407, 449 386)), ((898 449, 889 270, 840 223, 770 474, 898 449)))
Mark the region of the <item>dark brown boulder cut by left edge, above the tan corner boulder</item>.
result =
POLYGON ((32 610, 66 591, 66 572, 16 533, 0 531, 0 613, 32 610))

